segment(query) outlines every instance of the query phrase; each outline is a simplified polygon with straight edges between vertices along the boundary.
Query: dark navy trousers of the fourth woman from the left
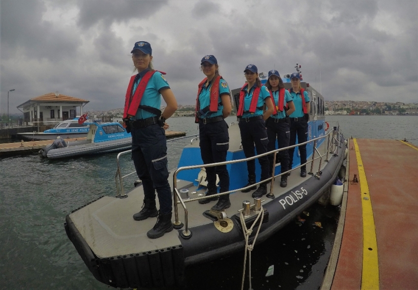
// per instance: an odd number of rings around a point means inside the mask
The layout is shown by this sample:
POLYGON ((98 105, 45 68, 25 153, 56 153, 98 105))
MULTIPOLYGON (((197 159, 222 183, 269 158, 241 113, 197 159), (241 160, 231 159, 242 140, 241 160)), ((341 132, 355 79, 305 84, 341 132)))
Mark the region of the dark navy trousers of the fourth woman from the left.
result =
MULTIPOLYGON (((276 149, 276 137, 278 149, 289 146, 290 141, 290 125, 287 122, 274 123, 274 119, 270 118, 267 125, 267 136, 269 137, 269 145, 267 151, 276 149)), ((289 150, 282 150, 277 153, 280 161, 281 173, 288 171, 289 168, 289 150)), ((273 154, 269 155, 270 168, 273 168, 273 154)))

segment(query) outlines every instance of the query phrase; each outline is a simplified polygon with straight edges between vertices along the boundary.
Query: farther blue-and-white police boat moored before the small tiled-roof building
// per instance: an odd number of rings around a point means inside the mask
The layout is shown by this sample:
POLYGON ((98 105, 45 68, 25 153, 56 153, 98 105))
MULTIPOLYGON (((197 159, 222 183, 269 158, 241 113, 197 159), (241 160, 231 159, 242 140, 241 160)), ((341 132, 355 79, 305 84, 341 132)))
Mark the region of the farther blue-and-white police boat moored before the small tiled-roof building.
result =
POLYGON ((79 118, 65 120, 54 126, 52 129, 44 132, 22 132, 16 133, 17 137, 24 140, 54 140, 58 136, 62 138, 82 138, 86 137, 89 132, 91 122, 87 121, 83 124, 78 123, 79 118))

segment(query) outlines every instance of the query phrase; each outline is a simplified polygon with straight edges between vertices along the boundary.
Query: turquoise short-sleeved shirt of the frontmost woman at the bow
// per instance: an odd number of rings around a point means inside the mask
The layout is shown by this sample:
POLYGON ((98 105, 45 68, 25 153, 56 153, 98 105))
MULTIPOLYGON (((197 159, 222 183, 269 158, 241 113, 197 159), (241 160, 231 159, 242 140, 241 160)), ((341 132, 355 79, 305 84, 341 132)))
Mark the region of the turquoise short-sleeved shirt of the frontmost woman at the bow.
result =
MULTIPOLYGON (((146 69, 139 74, 139 79, 134 83, 132 94, 135 93, 139 82, 148 71, 149 69, 146 69)), ((164 76, 160 72, 155 72, 147 83, 147 87, 145 88, 144 95, 142 96, 141 103, 139 105, 148 105, 148 106, 160 109, 161 107, 160 91, 162 89, 167 89, 167 88, 168 89, 170 88, 170 85, 168 84, 167 80, 164 79, 164 76)), ((132 117, 131 120, 147 119, 150 117, 156 117, 156 115, 138 108, 138 111, 136 112, 135 117, 132 117)))

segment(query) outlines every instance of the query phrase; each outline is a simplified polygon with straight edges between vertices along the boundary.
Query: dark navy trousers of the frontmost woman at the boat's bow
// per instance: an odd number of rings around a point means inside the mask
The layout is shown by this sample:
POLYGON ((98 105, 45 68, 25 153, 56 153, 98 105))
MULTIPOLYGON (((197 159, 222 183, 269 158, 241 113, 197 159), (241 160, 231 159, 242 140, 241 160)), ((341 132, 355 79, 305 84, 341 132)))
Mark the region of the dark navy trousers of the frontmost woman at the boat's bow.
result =
POLYGON ((172 211, 171 189, 168 183, 167 144, 164 129, 157 124, 132 129, 132 160, 144 187, 146 199, 158 194, 160 211, 172 211))

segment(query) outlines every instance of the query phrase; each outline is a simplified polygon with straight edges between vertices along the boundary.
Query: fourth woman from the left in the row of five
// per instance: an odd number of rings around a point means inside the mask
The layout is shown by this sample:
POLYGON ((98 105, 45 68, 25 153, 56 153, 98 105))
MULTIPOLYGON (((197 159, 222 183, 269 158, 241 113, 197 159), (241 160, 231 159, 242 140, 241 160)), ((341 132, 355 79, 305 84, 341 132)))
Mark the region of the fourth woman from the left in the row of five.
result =
MULTIPOLYGON (((269 89, 273 97, 274 113, 267 119, 267 136, 269 137, 268 151, 276 149, 276 137, 279 149, 289 146, 290 140, 290 120, 289 115, 295 111, 292 97, 288 90, 284 88, 283 80, 280 78, 279 72, 276 70, 269 71, 269 79, 267 79, 266 87, 269 89), (287 109, 288 108, 288 109, 287 109)), ((273 167, 273 156, 269 155, 270 168, 273 167)), ((280 161, 281 173, 288 171, 289 168, 289 151, 282 150, 277 153, 280 161)), ((287 174, 281 176, 280 186, 287 186, 287 174)))

